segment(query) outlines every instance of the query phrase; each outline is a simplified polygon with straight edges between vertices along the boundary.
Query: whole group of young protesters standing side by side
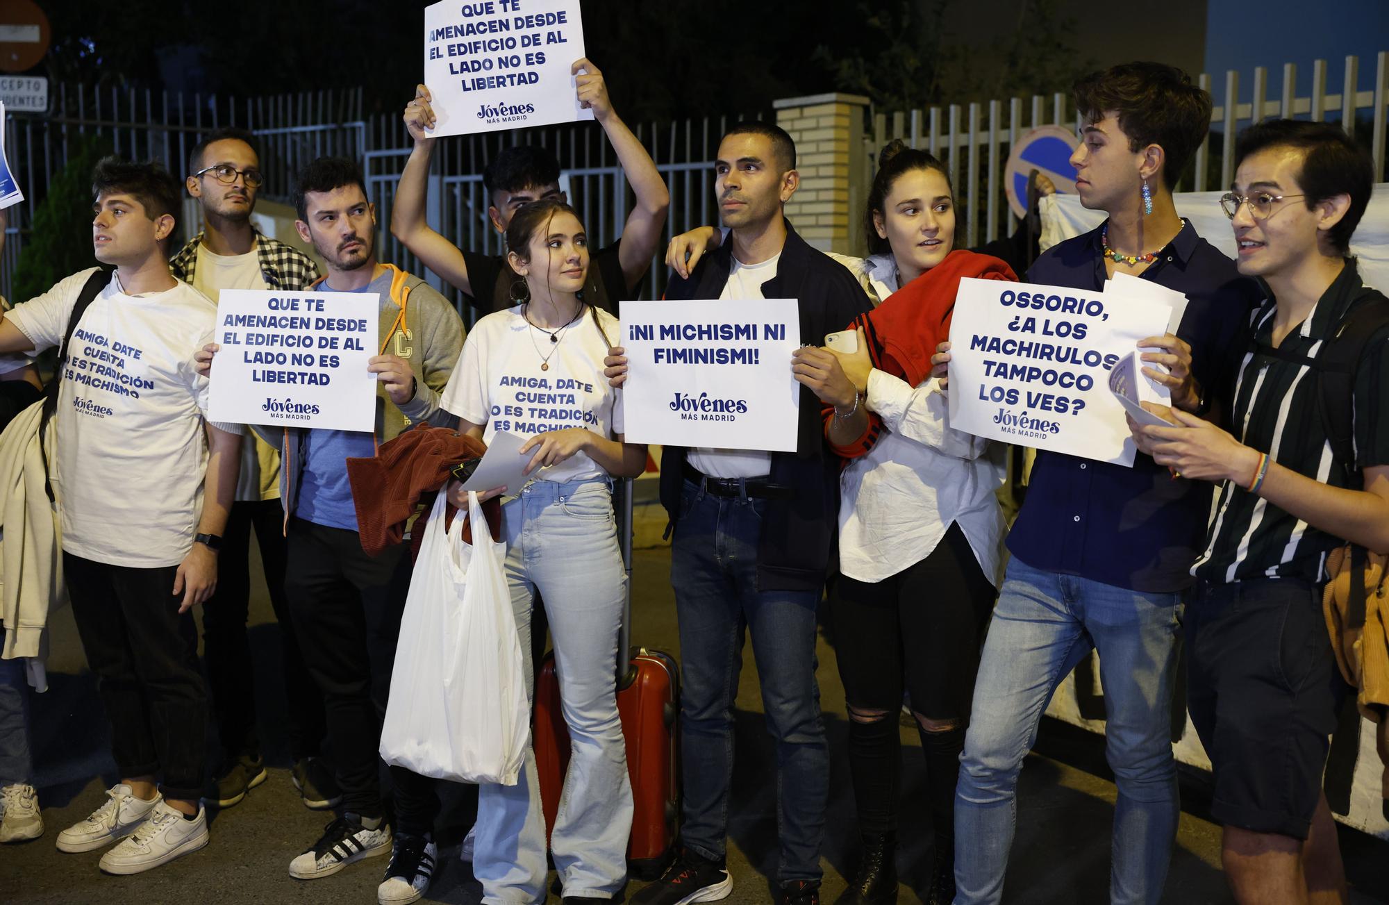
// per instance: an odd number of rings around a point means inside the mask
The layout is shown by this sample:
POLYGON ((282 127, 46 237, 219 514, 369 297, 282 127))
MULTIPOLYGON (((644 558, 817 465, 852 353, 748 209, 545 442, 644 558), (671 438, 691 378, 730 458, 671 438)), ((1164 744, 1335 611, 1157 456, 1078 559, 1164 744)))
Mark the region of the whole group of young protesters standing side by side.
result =
MULTIPOLYGON (((525 486, 483 496, 503 500, 528 677, 532 618, 544 611, 574 754, 549 837, 528 755, 517 783, 481 786, 465 848, 485 902, 544 901, 547 855, 565 902, 622 894, 632 791, 613 662, 626 576, 611 482, 640 473, 647 450, 624 437, 628 362, 615 315, 636 297, 669 196, 601 72, 586 60, 575 72, 578 100, 636 198, 621 240, 596 251, 560 189, 558 162, 526 146, 501 151, 483 174, 504 255, 461 251, 431 229, 428 89, 406 107, 415 146, 392 232, 483 315, 467 332, 428 283, 378 260, 376 211, 353 161, 315 160, 294 190, 296 229, 324 275, 251 225, 264 178, 249 133, 221 130, 194 149, 185 187, 204 228, 172 260, 176 182, 156 164, 97 167, 101 268, 0 319, 0 378, 35 384, 32 355, 61 350, 47 433, 39 418, 14 423, 56 447, 56 568, 119 773, 101 806, 58 834, 61 851, 114 843, 103 870, 149 870, 208 844, 204 805, 235 806, 265 781, 246 637, 254 527, 283 638, 293 780, 307 806, 336 809, 289 872, 319 879, 389 854, 378 901, 421 898, 438 859, 439 780, 392 766, 388 795, 378 762, 411 557, 407 544, 364 551, 344 462, 418 423, 488 443, 508 380, 572 378, 586 387, 572 421, 546 423, 526 443, 525 486), (207 421, 218 293, 314 287, 379 300, 375 430, 207 421), (222 751, 213 765, 210 719, 222 751)), ((1345 687, 1320 591, 1328 555, 1346 541, 1389 550, 1389 419, 1376 405, 1389 393, 1389 316, 1372 322, 1349 380, 1349 454, 1317 415, 1317 355, 1351 315, 1385 301, 1349 257, 1370 158, 1332 125, 1250 126, 1221 198, 1239 248, 1231 261, 1172 203, 1210 126, 1210 96, 1178 69, 1135 62, 1078 82, 1075 103, 1076 192, 1107 219, 1025 275, 958 246, 950 174, 925 151, 883 149, 864 211, 872 255, 858 260, 813 248, 785 218, 800 182, 790 136, 764 122, 722 136, 722 229, 671 240, 665 304, 795 298, 813 344, 788 362, 801 384, 795 453, 661 453, 681 643, 681 837, 633 902, 732 891, 733 704, 747 636, 776 750, 781 901, 820 901, 829 750, 815 644, 826 598, 861 837, 840 901, 896 901, 897 815, 910 806, 932 827, 924 899, 1001 901, 1024 756, 1051 694, 1095 650, 1118 791, 1110 897, 1157 902, 1179 813, 1170 712, 1183 632, 1188 705, 1213 763, 1211 812, 1225 827, 1235 897, 1345 901, 1321 793, 1345 687), (1140 450, 1132 468, 1039 451, 1010 530, 995 496, 1001 450, 950 425, 960 279, 1101 291, 1117 273, 1188 298, 1175 333, 1138 343, 1145 373, 1170 390, 1171 407, 1149 405, 1165 426, 1129 422, 1140 450), (856 330, 856 348, 818 344, 842 330, 856 330), (904 700, 926 763, 921 802, 899 793, 904 700)), ((467 511, 456 480, 443 490, 467 511)), ((0 741, 0 841, 35 838, 43 826, 24 676, 3 676, 0 726, 14 729, 0 741)))

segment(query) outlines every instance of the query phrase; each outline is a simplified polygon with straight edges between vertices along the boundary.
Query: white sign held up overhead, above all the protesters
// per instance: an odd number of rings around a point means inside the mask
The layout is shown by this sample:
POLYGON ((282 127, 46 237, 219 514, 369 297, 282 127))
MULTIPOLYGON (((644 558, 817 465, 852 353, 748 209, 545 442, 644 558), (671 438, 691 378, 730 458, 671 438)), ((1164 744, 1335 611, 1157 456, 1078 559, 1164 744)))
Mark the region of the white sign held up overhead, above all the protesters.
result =
POLYGON ((444 0, 425 7, 429 135, 592 119, 575 97, 583 56, 578 0, 444 0))

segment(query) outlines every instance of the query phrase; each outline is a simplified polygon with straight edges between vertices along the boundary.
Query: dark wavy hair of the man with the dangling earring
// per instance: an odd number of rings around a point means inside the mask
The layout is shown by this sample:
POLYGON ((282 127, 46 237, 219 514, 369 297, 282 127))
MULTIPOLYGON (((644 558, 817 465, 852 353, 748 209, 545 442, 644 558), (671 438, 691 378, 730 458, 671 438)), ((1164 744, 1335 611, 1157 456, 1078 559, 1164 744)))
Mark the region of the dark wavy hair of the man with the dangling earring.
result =
POLYGON ((1083 122, 1118 114, 1129 150, 1149 144, 1163 149, 1163 185, 1176 186, 1182 171, 1211 128, 1210 92, 1192 85, 1192 76, 1164 62, 1125 62, 1092 72, 1072 89, 1083 122))

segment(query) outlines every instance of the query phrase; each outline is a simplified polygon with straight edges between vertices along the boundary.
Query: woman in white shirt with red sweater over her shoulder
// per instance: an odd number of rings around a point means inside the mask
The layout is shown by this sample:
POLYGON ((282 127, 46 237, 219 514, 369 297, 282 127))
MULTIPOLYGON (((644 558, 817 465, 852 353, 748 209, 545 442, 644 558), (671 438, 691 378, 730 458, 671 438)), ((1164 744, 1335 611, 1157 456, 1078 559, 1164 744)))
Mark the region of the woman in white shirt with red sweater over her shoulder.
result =
MULTIPOLYGON (((997 258, 954 250, 945 167, 900 142, 883 149, 868 196, 868 244, 896 278, 861 315, 853 354, 808 348, 825 433, 845 459, 840 576, 831 594, 849 702, 849 762, 864 858, 849 902, 896 902, 893 861, 906 690, 926 759, 935 833, 928 902, 954 897, 954 787, 1006 525, 1003 468, 988 443, 953 430, 931 355, 949 336, 960 278, 1017 279, 997 258), (820 390, 817 390, 820 393, 820 390), (832 411, 831 411, 832 409, 832 411)), ((811 387, 815 389, 815 387, 811 387)))

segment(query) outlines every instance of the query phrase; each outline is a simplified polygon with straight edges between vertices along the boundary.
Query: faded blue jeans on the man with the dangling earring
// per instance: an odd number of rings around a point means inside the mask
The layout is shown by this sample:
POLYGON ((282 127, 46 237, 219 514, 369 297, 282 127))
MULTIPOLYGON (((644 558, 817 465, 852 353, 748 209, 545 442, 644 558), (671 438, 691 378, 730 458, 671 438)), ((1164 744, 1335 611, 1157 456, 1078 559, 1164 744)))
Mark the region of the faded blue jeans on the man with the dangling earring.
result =
POLYGON ((1093 647, 1114 770, 1110 901, 1157 902, 1176 837, 1171 709, 1181 594, 1131 591, 1014 558, 983 644, 956 788, 956 902, 997 902, 1022 758, 1057 684, 1093 647))

